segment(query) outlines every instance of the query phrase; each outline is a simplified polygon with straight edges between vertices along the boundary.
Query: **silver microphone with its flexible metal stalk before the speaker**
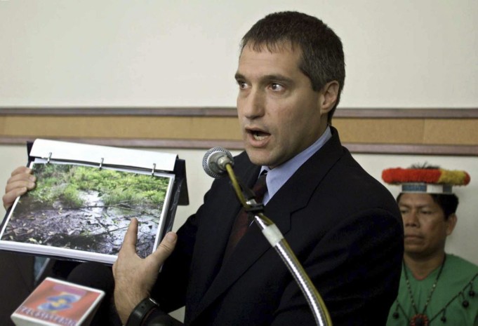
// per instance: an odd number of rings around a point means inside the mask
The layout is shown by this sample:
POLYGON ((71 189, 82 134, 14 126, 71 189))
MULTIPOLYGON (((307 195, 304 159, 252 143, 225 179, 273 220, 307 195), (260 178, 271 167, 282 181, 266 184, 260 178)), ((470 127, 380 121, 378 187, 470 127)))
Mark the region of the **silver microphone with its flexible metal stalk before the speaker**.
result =
POLYGON ((332 326, 331 316, 328 313, 324 300, 305 272, 303 266, 298 261, 296 254, 293 253, 291 247, 288 245, 286 239, 282 235, 279 228, 263 213, 263 204, 256 203, 255 199, 246 201, 244 194, 241 191, 239 182, 237 182, 236 175, 232 170, 234 165, 234 158, 229 151, 222 147, 214 147, 209 149, 203 158, 203 168, 206 173, 217 179, 229 175, 236 196, 241 202, 244 209, 254 217, 254 222, 259 226, 263 235, 269 241, 270 245, 281 257, 288 270, 292 273, 293 278, 298 283, 300 290, 303 292, 307 303, 309 304, 312 314, 314 315, 317 325, 332 326))

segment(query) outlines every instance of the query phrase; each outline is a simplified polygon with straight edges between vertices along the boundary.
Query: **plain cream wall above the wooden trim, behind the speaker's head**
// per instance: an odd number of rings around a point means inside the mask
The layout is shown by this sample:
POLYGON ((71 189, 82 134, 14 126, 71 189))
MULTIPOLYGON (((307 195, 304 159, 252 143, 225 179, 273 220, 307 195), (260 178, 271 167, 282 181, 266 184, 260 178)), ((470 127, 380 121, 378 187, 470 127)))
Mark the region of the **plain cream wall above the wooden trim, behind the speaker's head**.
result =
POLYGON ((239 39, 272 11, 343 40, 343 107, 477 107, 478 1, 0 1, 0 106, 232 107, 239 39))

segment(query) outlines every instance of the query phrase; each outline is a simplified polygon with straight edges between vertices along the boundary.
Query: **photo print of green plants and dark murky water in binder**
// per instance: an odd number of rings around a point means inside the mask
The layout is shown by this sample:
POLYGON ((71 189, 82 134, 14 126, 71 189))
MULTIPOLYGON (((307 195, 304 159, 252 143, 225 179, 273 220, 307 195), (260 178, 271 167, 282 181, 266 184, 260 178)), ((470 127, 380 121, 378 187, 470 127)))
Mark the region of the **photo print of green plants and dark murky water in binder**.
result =
POLYGON ((136 217, 138 255, 154 251, 171 175, 56 163, 33 163, 32 169, 36 188, 13 207, 1 243, 43 247, 46 255, 57 247, 116 256, 136 217))

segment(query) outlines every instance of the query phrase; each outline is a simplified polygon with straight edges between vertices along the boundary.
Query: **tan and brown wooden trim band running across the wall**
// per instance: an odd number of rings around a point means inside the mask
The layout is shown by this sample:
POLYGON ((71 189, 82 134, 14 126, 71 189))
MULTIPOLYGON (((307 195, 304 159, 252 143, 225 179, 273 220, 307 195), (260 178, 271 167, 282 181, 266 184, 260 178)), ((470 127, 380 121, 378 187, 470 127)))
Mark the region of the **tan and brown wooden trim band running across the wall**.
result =
MULTIPOLYGON (((333 118, 354 153, 478 156, 478 109, 346 109, 333 118)), ((3 107, 0 145, 49 138, 106 146, 242 149, 232 107, 3 107)))

